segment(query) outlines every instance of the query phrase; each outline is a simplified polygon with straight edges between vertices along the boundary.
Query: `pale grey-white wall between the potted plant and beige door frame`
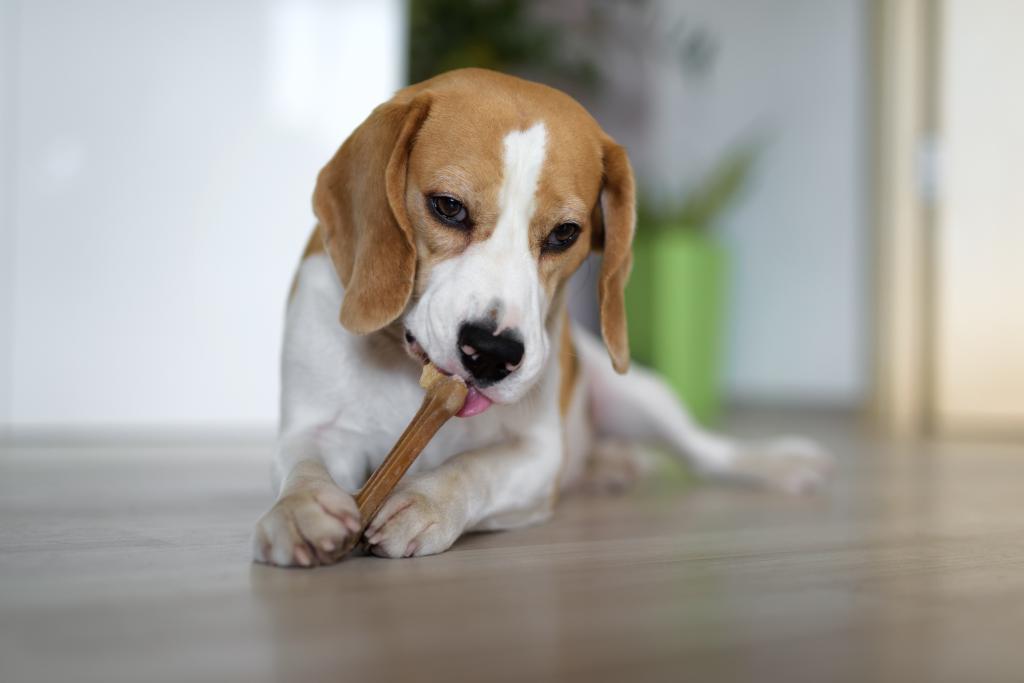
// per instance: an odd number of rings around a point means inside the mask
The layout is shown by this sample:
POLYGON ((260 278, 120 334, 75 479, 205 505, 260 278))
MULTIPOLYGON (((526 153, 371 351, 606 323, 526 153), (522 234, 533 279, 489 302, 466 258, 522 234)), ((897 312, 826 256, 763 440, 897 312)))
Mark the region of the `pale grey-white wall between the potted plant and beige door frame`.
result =
POLYGON ((663 0, 717 42, 703 78, 654 70, 645 171, 693 178, 756 134, 756 180, 719 233, 733 256, 730 394, 856 403, 868 324, 867 3, 663 0))

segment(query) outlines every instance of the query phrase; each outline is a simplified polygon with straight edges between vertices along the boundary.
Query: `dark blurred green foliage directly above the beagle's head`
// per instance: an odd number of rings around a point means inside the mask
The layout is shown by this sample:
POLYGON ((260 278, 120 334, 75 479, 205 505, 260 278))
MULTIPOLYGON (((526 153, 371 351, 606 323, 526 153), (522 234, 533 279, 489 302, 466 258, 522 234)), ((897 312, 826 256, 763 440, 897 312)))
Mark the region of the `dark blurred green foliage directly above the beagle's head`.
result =
POLYGON ((560 29, 538 19, 523 0, 410 0, 409 82, 453 69, 542 72, 594 88, 589 59, 569 56, 560 29))

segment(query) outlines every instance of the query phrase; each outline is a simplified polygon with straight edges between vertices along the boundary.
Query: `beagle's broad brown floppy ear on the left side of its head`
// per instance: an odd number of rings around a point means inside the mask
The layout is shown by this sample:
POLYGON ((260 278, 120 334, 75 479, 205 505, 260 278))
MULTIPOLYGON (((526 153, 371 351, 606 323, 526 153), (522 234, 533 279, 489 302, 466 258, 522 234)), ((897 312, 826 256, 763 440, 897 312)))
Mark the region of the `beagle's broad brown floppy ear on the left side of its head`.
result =
POLYGON ((376 332, 406 309, 416 241, 406 211, 409 153, 430 110, 426 95, 374 110, 316 179, 313 211, 345 286, 341 324, 376 332))

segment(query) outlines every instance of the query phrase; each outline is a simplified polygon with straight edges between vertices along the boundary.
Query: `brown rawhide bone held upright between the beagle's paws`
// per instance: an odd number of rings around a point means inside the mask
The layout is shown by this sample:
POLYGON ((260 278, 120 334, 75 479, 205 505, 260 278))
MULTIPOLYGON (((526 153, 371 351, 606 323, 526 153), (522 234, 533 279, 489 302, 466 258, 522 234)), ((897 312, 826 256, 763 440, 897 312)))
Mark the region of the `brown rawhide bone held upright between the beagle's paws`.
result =
POLYGON ((420 386, 427 391, 420 410, 391 447, 387 458, 370 475, 366 485, 355 496, 362 526, 358 533, 352 535, 343 552, 347 553, 359 542, 367 526, 373 521, 406 470, 434 437, 441 425, 462 410, 466 402, 468 388, 462 378, 444 375, 432 362, 423 367, 420 386))

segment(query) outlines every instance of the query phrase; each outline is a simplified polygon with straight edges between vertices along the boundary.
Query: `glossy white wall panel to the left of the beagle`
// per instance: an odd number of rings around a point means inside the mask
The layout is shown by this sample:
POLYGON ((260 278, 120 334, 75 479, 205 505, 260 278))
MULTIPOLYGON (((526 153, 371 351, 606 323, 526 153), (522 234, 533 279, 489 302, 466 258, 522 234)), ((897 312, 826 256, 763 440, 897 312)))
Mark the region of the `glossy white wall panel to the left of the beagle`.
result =
POLYGON ((399 87, 403 3, 0 1, 0 421, 271 424, 315 173, 399 87))

